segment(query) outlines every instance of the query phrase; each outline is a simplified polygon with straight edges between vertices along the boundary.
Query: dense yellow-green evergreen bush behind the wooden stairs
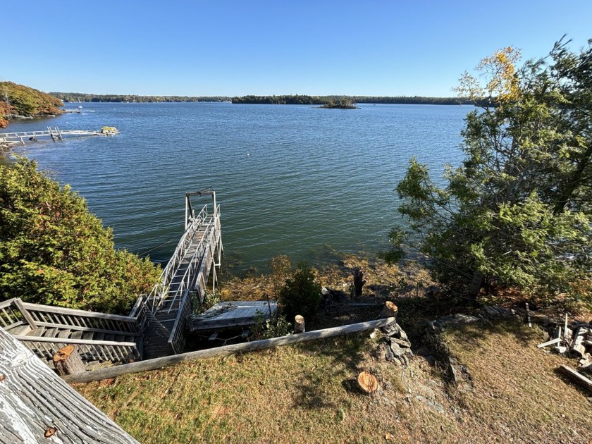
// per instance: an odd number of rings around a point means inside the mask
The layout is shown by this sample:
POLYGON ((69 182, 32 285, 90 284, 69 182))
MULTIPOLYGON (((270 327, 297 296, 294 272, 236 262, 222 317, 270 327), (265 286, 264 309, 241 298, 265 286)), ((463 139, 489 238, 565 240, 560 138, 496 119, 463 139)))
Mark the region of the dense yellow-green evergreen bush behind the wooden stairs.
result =
POLYGON ((0 299, 127 314, 159 275, 34 161, 0 166, 0 299))

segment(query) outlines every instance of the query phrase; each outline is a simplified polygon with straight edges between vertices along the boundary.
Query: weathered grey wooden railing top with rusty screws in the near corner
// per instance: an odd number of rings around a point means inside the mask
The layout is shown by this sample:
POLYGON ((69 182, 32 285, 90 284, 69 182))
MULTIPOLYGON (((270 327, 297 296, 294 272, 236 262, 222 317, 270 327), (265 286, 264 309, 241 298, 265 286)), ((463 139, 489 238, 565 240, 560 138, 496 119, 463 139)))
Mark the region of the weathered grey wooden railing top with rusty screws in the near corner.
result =
POLYGON ((136 443, 0 328, 0 443, 136 443))

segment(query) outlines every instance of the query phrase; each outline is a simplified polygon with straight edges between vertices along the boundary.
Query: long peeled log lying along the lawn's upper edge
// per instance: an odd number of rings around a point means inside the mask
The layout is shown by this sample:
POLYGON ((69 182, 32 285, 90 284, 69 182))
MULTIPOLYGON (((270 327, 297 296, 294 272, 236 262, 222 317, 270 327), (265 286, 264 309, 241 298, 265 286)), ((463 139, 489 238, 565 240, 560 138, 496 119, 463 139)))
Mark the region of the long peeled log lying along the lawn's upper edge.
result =
POLYGON ((377 319, 376 321, 352 323, 347 326, 326 328, 325 330, 315 330, 308 331, 306 333, 299 333, 297 335, 280 336, 280 338, 254 340, 250 343, 224 345, 223 347, 197 350, 196 352, 173 354, 172 356, 147 359, 146 361, 132 362, 131 364, 123 364, 113 367, 106 367, 104 369, 85 371, 84 373, 79 373, 76 375, 62 376, 62 378, 68 383, 100 381, 101 379, 114 378, 116 376, 137 373, 140 371, 161 369, 162 367, 177 364, 178 362, 191 361, 194 359, 204 359, 241 352, 252 352, 254 350, 279 347, 280 345, 290 345, 309 340, 333 338, 334 336, 358 333, 360 331, 366 330, 374 330, 374 328, 388 326, 390 323, 395 321, 395 318, 386 318, 377 319))

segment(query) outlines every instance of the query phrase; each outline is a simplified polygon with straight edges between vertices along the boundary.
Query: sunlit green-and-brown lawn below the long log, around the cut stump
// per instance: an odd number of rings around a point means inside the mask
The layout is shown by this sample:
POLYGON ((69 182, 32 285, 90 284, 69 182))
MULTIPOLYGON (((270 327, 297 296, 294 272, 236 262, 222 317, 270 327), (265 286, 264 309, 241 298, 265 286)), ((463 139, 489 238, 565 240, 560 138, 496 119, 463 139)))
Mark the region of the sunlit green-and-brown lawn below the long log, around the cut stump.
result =
POLYGON ((445 382, 416 355, 408 367, 371 356, 369 333, 188 362, 75 386, 141 443, 588 443, 588 395, 517 323, 445 333, 474 389, 445 382), (371 371, 380 390, 357 391, 371 371))

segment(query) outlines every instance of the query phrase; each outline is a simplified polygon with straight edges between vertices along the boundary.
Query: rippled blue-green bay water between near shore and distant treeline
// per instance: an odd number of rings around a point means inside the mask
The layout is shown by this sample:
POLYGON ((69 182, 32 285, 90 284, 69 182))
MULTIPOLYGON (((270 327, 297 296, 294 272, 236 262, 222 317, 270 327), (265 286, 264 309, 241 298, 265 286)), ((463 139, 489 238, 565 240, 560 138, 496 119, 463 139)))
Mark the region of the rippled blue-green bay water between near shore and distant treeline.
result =
POLYGON ((236 272, 264 271, 279 253, 293 263, 322 264, 336 252, 374 254, 386 247, 388 230, 399 222, 394 189, 409 157, 427 163, 436 177, 446 162, 458 164, 460 130, 471 110, 82 106, 82 114, 13 122, 8 130, 121 130, 116 137, 38 142, 20 151, 78 190, 113 228, 118 247, 149 252, 153 260, 168 259, 178 242, 185 192, 214 187, 225 260, 236 272))

